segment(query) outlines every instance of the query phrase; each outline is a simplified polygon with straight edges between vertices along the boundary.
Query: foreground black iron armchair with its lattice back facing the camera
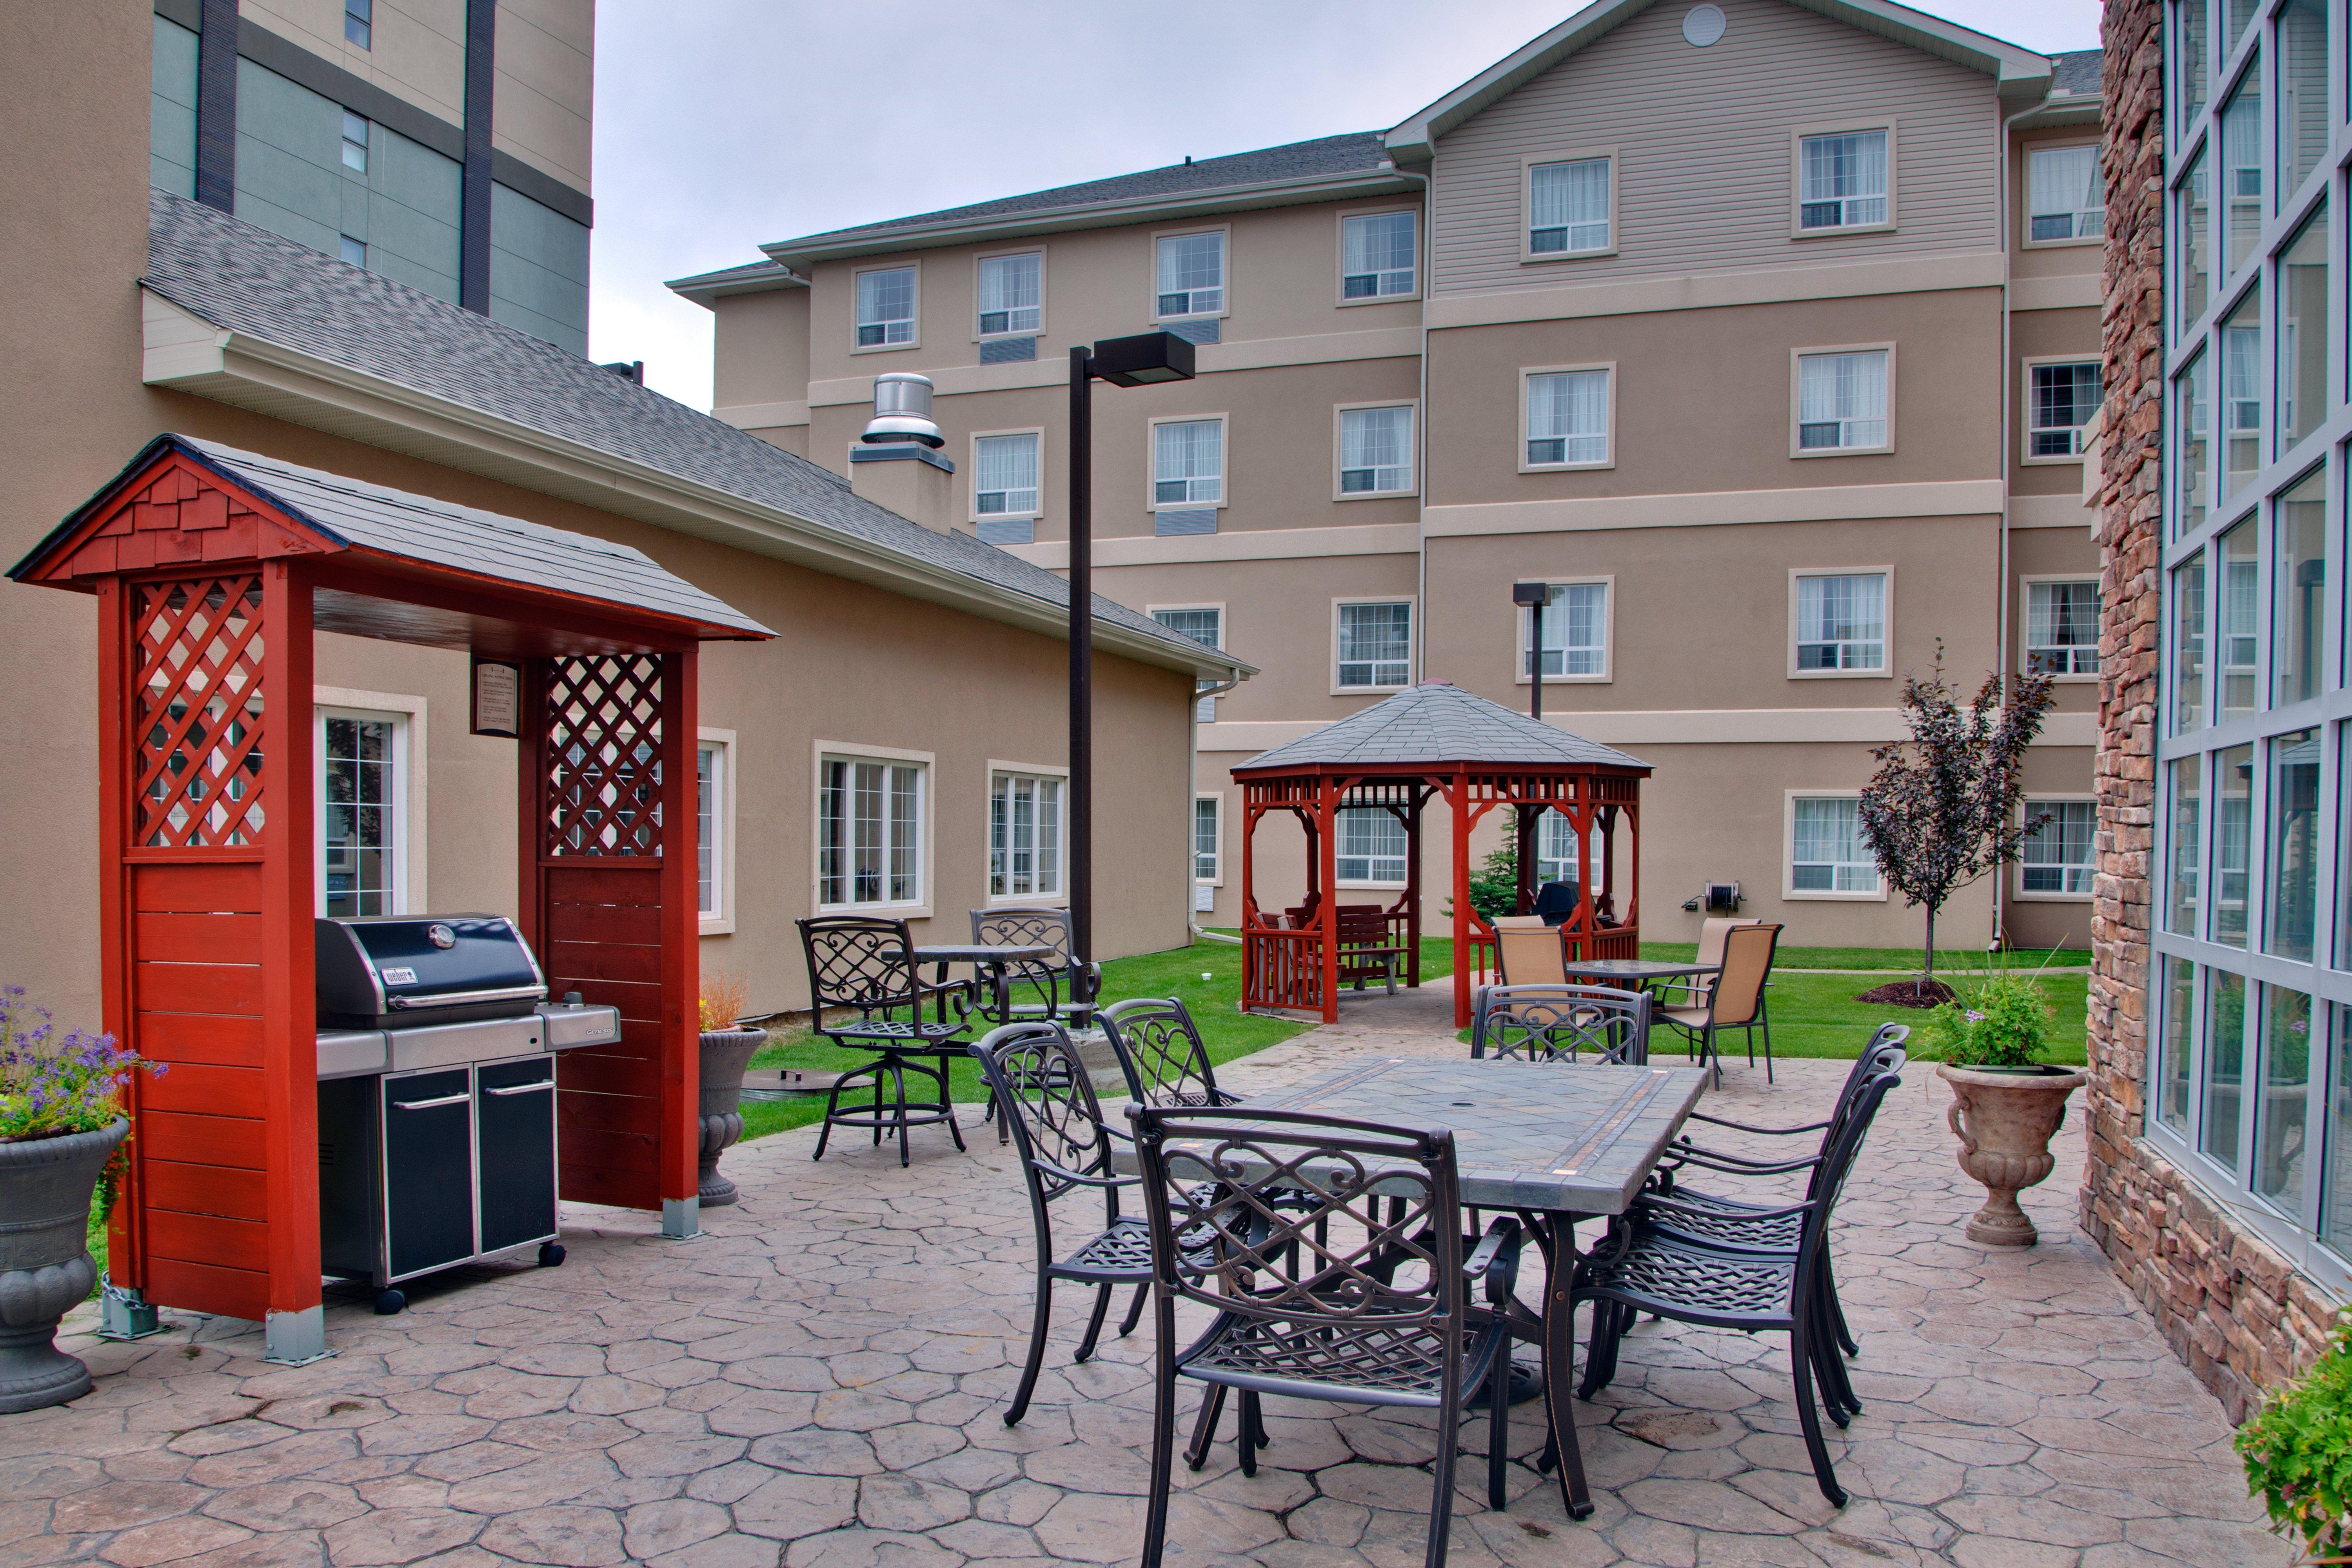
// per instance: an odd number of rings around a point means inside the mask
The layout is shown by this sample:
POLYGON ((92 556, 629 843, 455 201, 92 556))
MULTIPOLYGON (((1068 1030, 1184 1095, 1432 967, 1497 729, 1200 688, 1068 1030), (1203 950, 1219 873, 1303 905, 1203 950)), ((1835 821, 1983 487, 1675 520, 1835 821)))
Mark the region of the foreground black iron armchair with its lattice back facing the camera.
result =
MULTIPOLYGON (((1176 1382, 1242 1406, 1256 1474, 1263 1394, 1437 1413, 1428 1568, 1446 1561, 1456 1432, 1468 1396, 1508 1380, 1519 1222, 1463 1258, 1454 1133, 1251 1107, 1131 1105, 1152 1239, 1157 1399, 1143 1568, 1160 1568, 1176 1469, 1176 1382), (1291 1194, 1305 1194, 1294 1204, 1291 1194), (1472 1286, 1484 1305, 1472 1305, 1472 1286), (1216 1316, 1176 1345, 1176 1305, 1216 1316)), ((1510 1392, 1489 1394, 1489 1495, 1501 1505, 1510 1392)))

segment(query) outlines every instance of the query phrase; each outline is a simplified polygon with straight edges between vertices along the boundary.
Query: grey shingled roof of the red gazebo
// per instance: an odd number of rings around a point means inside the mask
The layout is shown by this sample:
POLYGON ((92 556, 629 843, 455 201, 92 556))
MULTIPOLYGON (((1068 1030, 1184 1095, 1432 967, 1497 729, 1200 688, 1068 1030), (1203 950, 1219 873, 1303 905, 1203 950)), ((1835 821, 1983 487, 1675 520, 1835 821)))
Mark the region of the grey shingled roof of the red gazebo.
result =
POLYGON ((1524 712, 1463 691, 1454 682, 1421 682, 1397 696, 1324 724, 1310 736, 1235 764, 1235 773, 1312 766, 1414 764, 1451 771, 1456 764, 1573 764, 1642 769, 1649 764, 1541 724, 1524 712))

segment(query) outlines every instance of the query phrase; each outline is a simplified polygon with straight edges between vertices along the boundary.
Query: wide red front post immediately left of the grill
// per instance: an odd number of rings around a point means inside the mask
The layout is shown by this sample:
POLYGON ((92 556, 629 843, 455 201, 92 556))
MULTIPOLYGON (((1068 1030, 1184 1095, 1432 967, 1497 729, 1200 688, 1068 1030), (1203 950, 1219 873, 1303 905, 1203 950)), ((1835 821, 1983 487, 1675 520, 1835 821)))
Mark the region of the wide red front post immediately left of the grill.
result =
POLYGON ((310 581, 261 567, 261 1140, 273 1361, 327 1354, 318 1284, 318 1004, 310 914, 310 581))

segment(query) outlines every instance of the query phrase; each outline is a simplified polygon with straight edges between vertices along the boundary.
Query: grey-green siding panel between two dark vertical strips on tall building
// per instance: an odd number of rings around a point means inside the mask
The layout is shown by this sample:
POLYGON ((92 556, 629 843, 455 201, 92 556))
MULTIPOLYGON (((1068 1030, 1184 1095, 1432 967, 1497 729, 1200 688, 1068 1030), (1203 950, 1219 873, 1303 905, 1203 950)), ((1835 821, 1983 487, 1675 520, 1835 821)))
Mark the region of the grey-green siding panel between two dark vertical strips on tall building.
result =
POLYGON ((456 301, 461 167, 369 127, 367 174, 343 167, 343 106, 238 61, 238 216, 329 256, 367 242, 367 268, 456 301))

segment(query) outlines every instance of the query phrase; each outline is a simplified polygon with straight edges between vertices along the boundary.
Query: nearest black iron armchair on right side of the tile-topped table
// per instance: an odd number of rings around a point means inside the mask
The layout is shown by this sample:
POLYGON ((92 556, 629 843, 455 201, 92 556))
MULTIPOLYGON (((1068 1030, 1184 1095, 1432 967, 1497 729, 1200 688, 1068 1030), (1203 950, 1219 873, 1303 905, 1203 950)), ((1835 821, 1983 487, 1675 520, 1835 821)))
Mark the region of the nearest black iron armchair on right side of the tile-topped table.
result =
POLYGON ((1830 1349, 1828 1300, 1823 1269, 1830 1258, 1830 1218, 1844 1192, 1853 1161, 1863 1150, 1863 1138, 1877 1117, 1879 1103, 1903 1079, 1896 1072, 1870 1072, 1853 1095, 1853 1105, 1830 1145, 1820 1154, 1806 1197, 1797 1204, 1757 1208, 1731 1218, 1719 1208, 1698 1211, 1672 1197, 1653 1194, 1642 1215, 1621 1218, 1609 1237, 1576 1265, 1573 1302, 1592 1305, 1592 1340, 1585 1349, 1585 1380, 1581 1399, 1592 1399, 1616 1378, 1618 1345, 1635 1316, 1675 1319, 1710 1328, 1738 1328, 1740 1333, 1785 1333, 1790 1356, 1790 1382, 1797 1396, 1797 1427, 1804 1432, 1804 1450, 1813 1460, 1813 1483, 1835 1507, 1846 1507, 1846 1490, 1837 1483, 1830 1465, 1830 1448, 1820 1434, 1820 1408, 1813 1403, 1818 1385, 1832 1420, 1846 1425, 1842 1403, 1844 1368, 1830 1349), (1776 1227, 1797 1220, 1797 1246, 1790 1251, 1729 1251, 1722 1246, 1698 1246, 1663 1229, 1665 1220, 1719 1225, 1726 1229, 1748 1227, 1755 1234, 1778 1234, 1776 1227))

